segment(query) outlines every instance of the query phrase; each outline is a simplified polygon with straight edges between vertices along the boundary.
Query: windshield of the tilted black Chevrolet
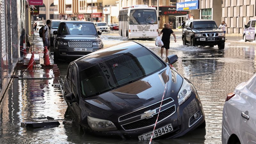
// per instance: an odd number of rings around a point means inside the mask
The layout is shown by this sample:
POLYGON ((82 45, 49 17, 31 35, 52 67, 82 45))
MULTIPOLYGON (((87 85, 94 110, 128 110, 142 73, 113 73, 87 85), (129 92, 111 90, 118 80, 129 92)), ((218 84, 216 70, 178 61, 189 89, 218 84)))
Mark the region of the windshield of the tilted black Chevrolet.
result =
POLYGON ((152 52, 140 48, 79 72, 84 97, 97 95, 153 74, 166 65, 152 52))

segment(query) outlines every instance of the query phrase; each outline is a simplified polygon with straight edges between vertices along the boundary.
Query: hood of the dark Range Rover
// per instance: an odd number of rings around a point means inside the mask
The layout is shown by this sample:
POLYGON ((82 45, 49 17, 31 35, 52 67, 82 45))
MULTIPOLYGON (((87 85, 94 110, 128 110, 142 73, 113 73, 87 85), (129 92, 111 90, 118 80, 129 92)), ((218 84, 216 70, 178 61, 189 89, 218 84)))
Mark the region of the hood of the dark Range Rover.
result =
POLYGON ((94 35, 64 35, 64 36, 58 36, 58 39, 64 39, 66 41, 79 41, 79 40, 95 41, 95 40, 100 40, 100 37, 94 36, 94 35))

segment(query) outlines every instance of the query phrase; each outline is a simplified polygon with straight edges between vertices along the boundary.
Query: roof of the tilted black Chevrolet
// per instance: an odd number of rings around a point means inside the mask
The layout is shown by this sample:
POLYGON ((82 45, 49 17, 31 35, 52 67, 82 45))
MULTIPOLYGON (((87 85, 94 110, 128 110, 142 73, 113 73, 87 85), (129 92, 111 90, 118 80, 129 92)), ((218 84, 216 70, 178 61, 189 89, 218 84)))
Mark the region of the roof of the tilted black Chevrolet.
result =
POLYGON ((111 47, 103 48, 87 54, 77 60, 74 60, 73 62, 76 63, 78 70, 81 71, 86 68, 90 68, 96 64, 99 64, 99 62, 112 59, 114 57, 123 55, 124 53, 131 52, 141 47, 143 47, 143 45, 135 41, 125 41, 112 45, 111 47))

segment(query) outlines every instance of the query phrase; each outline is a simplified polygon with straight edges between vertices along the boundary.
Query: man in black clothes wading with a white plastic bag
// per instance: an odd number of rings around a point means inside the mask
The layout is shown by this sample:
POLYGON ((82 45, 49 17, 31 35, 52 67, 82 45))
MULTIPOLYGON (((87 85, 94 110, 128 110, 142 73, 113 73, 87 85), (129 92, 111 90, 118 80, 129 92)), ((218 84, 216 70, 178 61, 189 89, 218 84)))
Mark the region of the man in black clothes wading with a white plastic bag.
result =
POLYGON ((160 36, 162 33, 163 33, 162 41, 163 41, 164 45, 161 47, 161 58, 163 59, 164 48, 165 48, 166 58, 167 58, 168 53, 169 53, 171 34, 174 37, 174 42, 175 43, 176 43, 176 36, 175 36, 174 32, 172 31, 172 29, 170 28, 170 23, 166 23, 166 28, 163 28, 160 31, 160 33, 158 34, 158 36, 160 36))

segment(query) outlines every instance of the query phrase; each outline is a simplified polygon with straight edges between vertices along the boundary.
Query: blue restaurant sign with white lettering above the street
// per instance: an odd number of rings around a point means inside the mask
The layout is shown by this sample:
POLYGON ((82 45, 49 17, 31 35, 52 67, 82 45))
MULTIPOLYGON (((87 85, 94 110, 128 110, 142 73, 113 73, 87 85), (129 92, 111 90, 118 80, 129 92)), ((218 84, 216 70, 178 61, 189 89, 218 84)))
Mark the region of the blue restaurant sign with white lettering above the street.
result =
POLYGON ((199 0, 177 3, 176 8, 179 11, 199 9, 199 0))

